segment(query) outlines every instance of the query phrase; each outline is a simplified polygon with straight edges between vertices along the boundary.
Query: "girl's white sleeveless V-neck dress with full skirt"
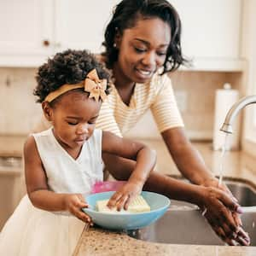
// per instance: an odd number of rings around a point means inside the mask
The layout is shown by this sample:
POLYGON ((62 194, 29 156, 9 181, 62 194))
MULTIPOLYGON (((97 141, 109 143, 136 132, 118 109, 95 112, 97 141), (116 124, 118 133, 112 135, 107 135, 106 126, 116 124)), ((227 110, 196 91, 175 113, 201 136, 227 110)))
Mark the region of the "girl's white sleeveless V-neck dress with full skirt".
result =
MULTIPOLYGON (((102 131, 95 130, 74 160, 56 141, 52 129, 33 134, 44 164, 49 189, 56 193, 90 194, 102 181, 102 131)), ((0 234, 0 255, 72 255, 84 222, 68 212, 47 212, 25 195, 0 234)))

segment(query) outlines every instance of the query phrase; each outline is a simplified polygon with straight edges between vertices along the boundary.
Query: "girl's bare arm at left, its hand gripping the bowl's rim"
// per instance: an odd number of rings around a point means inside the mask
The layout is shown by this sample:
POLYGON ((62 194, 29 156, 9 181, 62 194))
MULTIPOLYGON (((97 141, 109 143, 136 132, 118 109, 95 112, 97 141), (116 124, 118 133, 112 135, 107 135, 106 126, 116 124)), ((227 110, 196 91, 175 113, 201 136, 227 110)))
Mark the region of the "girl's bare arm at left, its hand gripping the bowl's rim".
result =
POLYGON ((68 211, 77 218, 90 222, 90 218, 80 210, 88 207, 82 195, 57 194, 49 190, 44 166, 32 136, 27 138, 24 145, 24 161, 27 195, 34 207, 49 212, 68 211))

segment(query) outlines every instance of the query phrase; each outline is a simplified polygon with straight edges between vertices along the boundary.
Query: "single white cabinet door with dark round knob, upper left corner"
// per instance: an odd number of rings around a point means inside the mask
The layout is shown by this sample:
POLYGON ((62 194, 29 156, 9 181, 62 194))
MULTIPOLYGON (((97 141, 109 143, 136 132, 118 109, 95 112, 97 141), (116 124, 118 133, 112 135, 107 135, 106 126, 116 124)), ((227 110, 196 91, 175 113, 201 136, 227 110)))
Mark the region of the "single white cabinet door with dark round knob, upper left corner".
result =
POLYGON ((0 1, 0 65, 41 64, 52 50, 52 19, 50 0, 0 1))

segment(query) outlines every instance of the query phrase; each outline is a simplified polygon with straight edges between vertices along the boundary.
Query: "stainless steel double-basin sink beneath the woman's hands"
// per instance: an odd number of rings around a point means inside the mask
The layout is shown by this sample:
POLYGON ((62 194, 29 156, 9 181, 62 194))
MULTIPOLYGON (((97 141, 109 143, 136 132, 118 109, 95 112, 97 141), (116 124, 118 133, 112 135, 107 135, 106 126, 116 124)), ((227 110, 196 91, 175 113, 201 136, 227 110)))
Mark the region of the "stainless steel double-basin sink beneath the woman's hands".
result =
MULTIPOLYGON (((245 183, 227 183, 241 202, 243 228, 249 233, 251 246, 256 246, 256 193, 245 183)), ((195 205, 172 200, 166 214, 154 224, 141 230, 130 230, 128 235, 143 241, 176 244, 224 245, 215 235, 206 218, 195 205)))

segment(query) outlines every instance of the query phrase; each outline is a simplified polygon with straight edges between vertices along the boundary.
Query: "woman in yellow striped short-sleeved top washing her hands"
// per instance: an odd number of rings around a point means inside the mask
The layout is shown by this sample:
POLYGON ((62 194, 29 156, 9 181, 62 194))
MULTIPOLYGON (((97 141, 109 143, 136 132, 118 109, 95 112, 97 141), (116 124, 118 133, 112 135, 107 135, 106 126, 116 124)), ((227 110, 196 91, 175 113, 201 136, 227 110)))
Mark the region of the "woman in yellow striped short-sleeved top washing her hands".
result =
MULTIPOLYGON (((116 6, 105 32, 106 51, 102 55, 113 72, 114 85, 108 102, 102 104, 97 127, 125 136, 150 108, 170 157, 192 184, 153 172, 144 189, 198 205, 224 241, 248 245, 238 214, 241 207, 224 185, 218 187, 218 180, 185 135, 166 75, 186 62, 180 35, 181 21, 166 0, 123 0, 116 6)), ((103 159, 117 179, 127 179, 133 170, 131 160, 111 154, 104 154, 103 159)))

